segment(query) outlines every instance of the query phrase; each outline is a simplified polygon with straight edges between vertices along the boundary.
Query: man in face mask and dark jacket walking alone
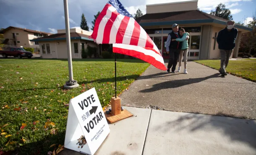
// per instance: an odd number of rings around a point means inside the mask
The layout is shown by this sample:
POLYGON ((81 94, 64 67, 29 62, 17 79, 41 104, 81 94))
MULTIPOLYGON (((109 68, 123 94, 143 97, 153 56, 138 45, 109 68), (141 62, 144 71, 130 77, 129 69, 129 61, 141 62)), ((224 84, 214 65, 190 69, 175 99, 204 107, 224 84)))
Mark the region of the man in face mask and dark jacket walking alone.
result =
POLYGON ((230 55, 235 48, 235 39, 238 34, 238 29, 234 28, 235 21, 227 21, 227 27, 220 30, 217 36, 217 43, 220 51, 220 68, 219 72, 222 76, 227 75, 226 67, 230 55))

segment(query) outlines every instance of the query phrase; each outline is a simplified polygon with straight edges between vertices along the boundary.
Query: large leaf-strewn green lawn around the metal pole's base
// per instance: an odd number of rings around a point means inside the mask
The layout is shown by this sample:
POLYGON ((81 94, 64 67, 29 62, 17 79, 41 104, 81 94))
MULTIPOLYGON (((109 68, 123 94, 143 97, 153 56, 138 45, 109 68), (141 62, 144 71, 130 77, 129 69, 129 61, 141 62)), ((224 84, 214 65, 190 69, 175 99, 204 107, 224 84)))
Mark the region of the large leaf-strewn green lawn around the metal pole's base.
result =
MULTIPOLYGON (((138 59, 118 59, 118 94, 146 68, 138 59)), ((63 90, 68 62, 62 59, 0 59, 0 151, 44 154, 64 145, 69 100, 95 87, 102 106, 115 95, 113 59, 73 60, 79 88, 63 90)))

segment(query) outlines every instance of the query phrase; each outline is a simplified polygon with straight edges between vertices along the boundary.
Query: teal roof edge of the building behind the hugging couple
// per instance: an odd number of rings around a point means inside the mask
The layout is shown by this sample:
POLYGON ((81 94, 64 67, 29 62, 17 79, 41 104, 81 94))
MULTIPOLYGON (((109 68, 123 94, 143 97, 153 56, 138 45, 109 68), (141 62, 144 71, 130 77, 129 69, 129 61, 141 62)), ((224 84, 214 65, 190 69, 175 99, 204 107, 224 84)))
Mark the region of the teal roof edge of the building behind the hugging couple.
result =
MULTIPOLYGON (((170 26, 174 23, 177 24, 199 24, 199 23, 216 23, 220 25, 226 25, 225 21, 219 21, 216 19, 196 19, 196 20, 184 20, 184 21, 161 21, 161 22, 150 22, 150 23, 140 23, 140 26, 170 26)), ((245 31, 252 31, 252 28, 246 26, 235 25, 235 28, 239 28, 245 31)))

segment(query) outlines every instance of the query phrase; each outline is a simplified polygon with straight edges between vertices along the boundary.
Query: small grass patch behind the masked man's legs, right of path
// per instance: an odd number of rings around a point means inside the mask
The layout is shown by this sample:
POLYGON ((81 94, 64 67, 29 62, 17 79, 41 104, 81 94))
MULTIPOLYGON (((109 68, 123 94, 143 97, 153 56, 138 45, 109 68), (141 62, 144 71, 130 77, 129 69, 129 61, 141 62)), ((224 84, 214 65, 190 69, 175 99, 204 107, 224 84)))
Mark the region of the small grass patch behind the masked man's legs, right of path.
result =
MULTIPOLYGON (((208 67, 219 70, 220 60, 195 60, 208 67)), ((226 72, 256 82, 256 61, 229 61, 226 72)))

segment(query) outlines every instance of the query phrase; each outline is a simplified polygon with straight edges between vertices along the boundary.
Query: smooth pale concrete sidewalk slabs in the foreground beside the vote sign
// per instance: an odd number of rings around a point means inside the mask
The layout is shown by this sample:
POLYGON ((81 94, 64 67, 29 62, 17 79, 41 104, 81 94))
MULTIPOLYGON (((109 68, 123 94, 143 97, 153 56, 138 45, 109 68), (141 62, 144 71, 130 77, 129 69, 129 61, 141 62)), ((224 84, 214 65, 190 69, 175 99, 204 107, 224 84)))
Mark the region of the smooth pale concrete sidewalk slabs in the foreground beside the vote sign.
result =
MULTIPOLYGON (((125 107, 95 155, 255 155, 256 121, 125 107)), ((82 155, 63 150, 59 155, 82 155)))

